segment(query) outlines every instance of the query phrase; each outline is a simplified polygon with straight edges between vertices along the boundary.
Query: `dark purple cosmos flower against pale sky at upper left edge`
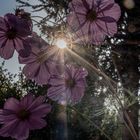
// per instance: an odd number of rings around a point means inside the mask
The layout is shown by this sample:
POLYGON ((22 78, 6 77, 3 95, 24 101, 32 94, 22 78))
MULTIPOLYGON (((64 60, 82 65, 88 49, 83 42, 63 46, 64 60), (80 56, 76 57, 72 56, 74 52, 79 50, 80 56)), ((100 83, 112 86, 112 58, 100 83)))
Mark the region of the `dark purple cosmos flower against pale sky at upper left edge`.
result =
POLYGON ((0 56, 9 59, 14 50, 24 49, 24 39, 31 34, 31 25, 13 14, 0 17, 0 56))

